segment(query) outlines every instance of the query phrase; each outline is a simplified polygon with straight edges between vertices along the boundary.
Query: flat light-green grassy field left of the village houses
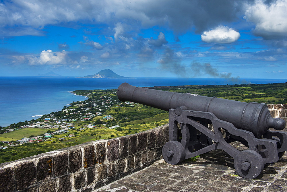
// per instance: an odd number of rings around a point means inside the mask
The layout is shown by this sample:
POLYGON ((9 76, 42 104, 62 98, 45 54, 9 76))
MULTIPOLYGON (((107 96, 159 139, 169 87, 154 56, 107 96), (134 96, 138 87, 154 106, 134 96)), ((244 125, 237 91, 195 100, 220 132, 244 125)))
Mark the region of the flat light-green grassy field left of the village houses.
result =
POLYGON ((24 128, 11 131, 9 133, 1 134, 0 141, 15 141, 24 137, 30 137, 31 135, 37 136, 46 133, 48 130, 55 131, 53 129, 40 129, 40 128, 24 128))

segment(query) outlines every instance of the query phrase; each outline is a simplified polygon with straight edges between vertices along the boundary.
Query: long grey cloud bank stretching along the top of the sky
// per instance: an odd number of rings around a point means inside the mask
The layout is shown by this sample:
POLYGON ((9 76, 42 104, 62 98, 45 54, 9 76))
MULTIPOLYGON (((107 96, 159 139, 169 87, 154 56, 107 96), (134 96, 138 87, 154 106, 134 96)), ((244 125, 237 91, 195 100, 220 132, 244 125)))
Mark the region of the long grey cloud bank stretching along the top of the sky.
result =
MULTIPOLYGON (((2 4, 1 26, 26 26, 42 29, 46 25, 71 24, 77 22, 115 25, 119 22, 139 24, 144 27, 169 26, 176 34, 195 28, 195 32, 232 22, 242 13, 245 1, 201 1, 201 0, 146 0, 121 2, 77 0, 2 4), (77 6, 74 6, 77 4, 77 6), (37 9, 35 9, 37 7, 37 9), (40 19, 39 19, 40 18, 40 19)), ((72 25, 73 26, 73 25, 72 25)))

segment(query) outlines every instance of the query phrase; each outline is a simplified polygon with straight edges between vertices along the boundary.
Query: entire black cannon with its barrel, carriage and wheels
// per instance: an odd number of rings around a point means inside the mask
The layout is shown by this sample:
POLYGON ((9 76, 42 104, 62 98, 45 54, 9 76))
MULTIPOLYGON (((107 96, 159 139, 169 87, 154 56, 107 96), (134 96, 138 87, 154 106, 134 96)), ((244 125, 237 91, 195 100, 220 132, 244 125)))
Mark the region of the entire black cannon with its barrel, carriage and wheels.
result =
POLYGON ((253 179, 266 163, 277 162, 287 149, 287 132, 279 131, 286 123, 272 118, 264 103, 181 94, 128 83, 119 86, 117 96, 121 101, 169 112, 169 141, 162 148, 162 156, 172 165, 221 149, 234 158, 234 168, 241 177, 253 179), (211 125, 213 130, 208 128, 211 125), (234 141, 249 149, 239 151, 230 144, 234 141))

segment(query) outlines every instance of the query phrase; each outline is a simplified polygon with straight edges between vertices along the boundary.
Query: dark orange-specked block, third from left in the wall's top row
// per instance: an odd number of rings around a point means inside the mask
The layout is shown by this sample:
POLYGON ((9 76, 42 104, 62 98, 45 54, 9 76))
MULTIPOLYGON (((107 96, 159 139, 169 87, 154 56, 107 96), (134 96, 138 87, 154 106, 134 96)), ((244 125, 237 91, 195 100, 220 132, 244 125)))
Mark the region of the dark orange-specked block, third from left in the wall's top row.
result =
POLYGON ((37 163, 37 181, 51 179, 52 177, 53 162, 51 156, 44 156, 39 158, 37 163))

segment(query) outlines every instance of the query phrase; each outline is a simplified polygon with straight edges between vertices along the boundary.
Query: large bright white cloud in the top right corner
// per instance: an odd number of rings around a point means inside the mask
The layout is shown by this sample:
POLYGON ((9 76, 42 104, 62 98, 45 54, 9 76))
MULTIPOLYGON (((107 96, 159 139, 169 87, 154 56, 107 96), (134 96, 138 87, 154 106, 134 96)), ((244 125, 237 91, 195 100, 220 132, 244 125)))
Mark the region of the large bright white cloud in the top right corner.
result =
POLYGON ((254 33, 265 39, 287 36, 287 1, 277 0, 270 4, 257 0, 245 11, 247 21, 255 24, 254 33))

